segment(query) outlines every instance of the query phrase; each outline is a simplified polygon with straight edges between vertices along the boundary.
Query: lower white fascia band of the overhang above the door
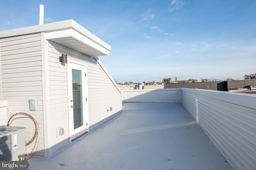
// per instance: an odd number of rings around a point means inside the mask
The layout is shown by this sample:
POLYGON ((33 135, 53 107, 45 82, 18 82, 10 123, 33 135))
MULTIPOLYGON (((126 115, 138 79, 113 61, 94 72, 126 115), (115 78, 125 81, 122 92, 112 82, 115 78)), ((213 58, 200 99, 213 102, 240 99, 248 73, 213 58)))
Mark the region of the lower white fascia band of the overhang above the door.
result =
MULTIPOLYGON (((58 30, 58 31, 56 31, 56 30, 48 31, 45 34, 45 39, 53 41, 53 42, 55 42, 56 40, 58 40, 60 38, 65 38, 65 37, 66 38, 72 37, 75 40, 78 40, 79 42, 82 42, 85 45, 89 45, 90 47, 92 47, 92 50, 101 51, 105 55, 109 55, 108 49, 102 47, 98 43, 95 43, 91 39, 88 39, 87 37, 78 33, 77 31, 75 31, 72 28, 62 29, 62 30, 58 30)), ((58 42, 56 42, 56 43, 58 43, 58 42)), ((58 43, 58 44, 62 45, 61 43, 58 43)), ((65 45, 63 45, 63 46, 65 46, 65 45)), ((68 46, 66 46, 66 47, 68 47, 68 46)), ((76 49, 75 45, 74 45, 74 49, 76 49)))

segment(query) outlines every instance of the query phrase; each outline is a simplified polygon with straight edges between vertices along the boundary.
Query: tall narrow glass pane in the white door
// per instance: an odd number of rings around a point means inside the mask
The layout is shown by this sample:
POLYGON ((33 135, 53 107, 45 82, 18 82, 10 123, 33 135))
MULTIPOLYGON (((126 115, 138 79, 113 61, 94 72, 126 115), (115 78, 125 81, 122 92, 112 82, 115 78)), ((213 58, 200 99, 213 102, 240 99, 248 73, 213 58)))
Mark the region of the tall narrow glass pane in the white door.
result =
POLYGON ((82 108, 82 79, 81 70, 72 69, 72 92, 73 92, 73 121, 74 129, 84 125, 82 108))

